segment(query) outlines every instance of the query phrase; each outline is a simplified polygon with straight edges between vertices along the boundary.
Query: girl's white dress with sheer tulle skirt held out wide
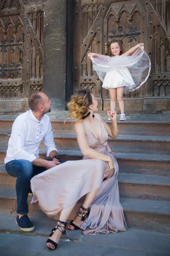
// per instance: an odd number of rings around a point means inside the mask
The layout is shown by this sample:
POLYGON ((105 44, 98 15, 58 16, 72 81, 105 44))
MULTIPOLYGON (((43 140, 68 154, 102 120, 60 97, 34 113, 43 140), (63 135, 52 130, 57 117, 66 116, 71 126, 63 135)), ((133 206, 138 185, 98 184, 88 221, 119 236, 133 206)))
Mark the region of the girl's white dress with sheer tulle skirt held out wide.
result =
POLYGON ((105 89, 124 86, 124 93, 136 90, 147 80, 150 73, 150 58, 140 47, 132 56, 99 55, 91 57, 93 70, 103 82, 105 89))

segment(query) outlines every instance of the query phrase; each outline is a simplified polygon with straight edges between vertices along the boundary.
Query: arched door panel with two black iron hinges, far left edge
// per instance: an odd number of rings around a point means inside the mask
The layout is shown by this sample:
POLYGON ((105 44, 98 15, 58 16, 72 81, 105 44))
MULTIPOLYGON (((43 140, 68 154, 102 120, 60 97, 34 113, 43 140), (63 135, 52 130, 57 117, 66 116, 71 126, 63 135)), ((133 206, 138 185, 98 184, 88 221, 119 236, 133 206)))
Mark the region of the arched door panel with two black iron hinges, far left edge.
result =
POLYGON ((21 99, 23 25, 19 15, 0 17, 0 99, 21 99))

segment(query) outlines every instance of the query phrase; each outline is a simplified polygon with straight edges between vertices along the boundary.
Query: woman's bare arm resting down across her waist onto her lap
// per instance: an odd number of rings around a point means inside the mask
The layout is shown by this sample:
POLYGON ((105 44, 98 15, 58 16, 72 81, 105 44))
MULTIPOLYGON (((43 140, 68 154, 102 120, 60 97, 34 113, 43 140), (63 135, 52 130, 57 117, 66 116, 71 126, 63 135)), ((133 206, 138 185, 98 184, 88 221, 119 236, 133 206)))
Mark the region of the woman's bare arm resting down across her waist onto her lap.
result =
POLYGON ((79 148, 82 151, 82 154, 84 156, 89 157, 91 159, 103 160, 105 162, 112 161, 111 157, 109 157, 108 155, 102 154, 102 153, 94 150, 93 148, 89 147, 86 136, 85 136, 85 127, 81 123, 81 121, 75 123, 74 129, 77 134, 77 142, 79 144, 79 148))

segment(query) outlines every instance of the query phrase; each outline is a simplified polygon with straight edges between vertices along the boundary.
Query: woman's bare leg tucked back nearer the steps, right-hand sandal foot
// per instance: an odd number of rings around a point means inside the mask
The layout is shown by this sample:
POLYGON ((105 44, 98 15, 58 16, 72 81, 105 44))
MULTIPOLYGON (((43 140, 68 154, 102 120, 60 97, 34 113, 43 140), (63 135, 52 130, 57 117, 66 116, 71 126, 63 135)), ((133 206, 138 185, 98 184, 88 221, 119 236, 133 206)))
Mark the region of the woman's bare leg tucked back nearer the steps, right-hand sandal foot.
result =
MULTIPOLYGON (((93 202, 94 198, 96 197, 98 191, 99 191, 99 189, 96 189, 96 190, 94 190, 94 191, 89 192, 89 193, 86 195, 85 201, 84 201, 84 203, 82 204, 82 206, 83 206, 84 208, 87 209, 87 208, 90 207, 90 205, 91 205, 91 203, 93 202)), ((85 213, 86 213, 86 212, 85 212, 85 213)), ((82 217, 81 217, 81 216, 76 216, 76 218, 74 219, 73 223, 74 223, 75 225, 77 225, 78 227, 80 227, 80 226, 82 225, 82 223, 83 223, 82 217)), ((69 227, 70 230, 74 230, 74 227, 73 227, 71 224, 70 224, 68 227, 69 227)))

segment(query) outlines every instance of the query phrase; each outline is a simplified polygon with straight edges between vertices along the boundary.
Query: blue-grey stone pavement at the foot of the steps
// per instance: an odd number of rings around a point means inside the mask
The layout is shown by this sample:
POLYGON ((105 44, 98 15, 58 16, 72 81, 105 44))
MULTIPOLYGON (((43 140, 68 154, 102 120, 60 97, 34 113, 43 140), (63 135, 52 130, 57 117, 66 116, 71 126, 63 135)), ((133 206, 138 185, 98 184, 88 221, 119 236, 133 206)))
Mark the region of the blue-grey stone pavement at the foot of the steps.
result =
MULTIPOLYGON (((10 256, 39 255, 36 251, 41 248, 43 252, 40 254, 43 256, 55 255, 55 253, 49 253, 47 250, 44 250, 45 241, 51 229, 56 224, 54 219, 48 218, 45 215, 43 217, 32 216, 31 221, 35 225, 35 230, 31 232, 21 231, 17 227, 15 219, 15 215, 0 214, 0 231, 3 233, 1 235, 1 246, 6 246, 4 247, 6 249, 5 252, 4 248, 1 249, 4 252, 2 256, 7 256, 7 252, 10 256), (20 252, 21 243, 25 244, 23 253, 20 252), (31 250, 30 254, 28 253, 29 247, 31 250)), ((83 236, 82 230, 75 230, 74 232, 67 230, 66 236, 61 237, 56 255, 86 256, 88 251, 89 256, 167 256, 170 252, 169 241, 170 234, 132 228, 127 228, 127 232, 118 232, 117 234, 109 234, 108 236, 105 234, 100 234, 99 236, 83 236), (94 251, 96 247, 98 250, 94 251), (110 247, 111 250, 108 251, 110 247), (76 254, 75 252, 77 251, 80 251, 80 253, 76 254)))

